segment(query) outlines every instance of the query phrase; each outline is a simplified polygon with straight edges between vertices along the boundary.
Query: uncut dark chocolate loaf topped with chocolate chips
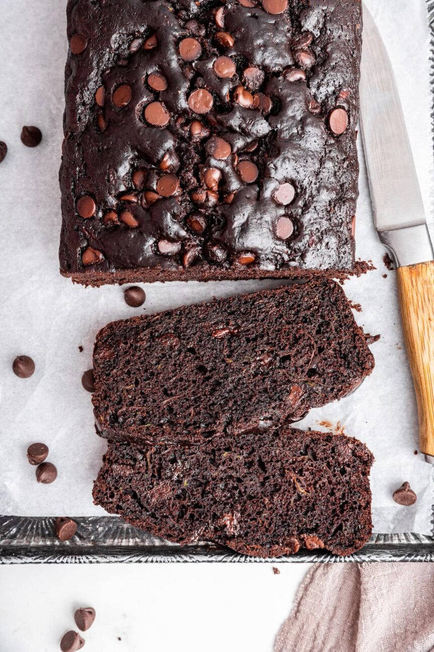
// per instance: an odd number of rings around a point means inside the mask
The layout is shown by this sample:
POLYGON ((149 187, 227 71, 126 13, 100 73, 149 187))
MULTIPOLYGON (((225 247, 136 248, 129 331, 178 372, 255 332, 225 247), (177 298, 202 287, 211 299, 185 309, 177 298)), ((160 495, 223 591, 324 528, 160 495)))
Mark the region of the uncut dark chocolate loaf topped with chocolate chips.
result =
POLYGON ((351 270, 360 0, 69 0, 61 273, 351 270))

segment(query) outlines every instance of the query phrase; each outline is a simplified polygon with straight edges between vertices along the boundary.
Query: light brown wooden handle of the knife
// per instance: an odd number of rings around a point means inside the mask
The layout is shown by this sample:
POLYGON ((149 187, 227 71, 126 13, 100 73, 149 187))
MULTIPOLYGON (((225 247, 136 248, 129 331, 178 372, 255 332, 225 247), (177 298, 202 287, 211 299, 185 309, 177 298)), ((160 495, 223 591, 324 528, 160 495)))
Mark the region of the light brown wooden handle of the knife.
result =
POLYGON ((434 456, 434 261, 398 267, 405 346, 419 413, 420 452, 434 456))

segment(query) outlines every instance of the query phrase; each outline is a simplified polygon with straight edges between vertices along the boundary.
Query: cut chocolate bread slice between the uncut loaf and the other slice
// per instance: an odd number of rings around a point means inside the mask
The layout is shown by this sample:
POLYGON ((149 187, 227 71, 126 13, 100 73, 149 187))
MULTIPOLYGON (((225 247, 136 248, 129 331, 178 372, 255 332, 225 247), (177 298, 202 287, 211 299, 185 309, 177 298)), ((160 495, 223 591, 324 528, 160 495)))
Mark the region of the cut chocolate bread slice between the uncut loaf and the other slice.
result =
POLYGON ((94 347, 103 437, 198 443, 297 421, 351 393, 373 357, 330 280, 115 321, 94 347))

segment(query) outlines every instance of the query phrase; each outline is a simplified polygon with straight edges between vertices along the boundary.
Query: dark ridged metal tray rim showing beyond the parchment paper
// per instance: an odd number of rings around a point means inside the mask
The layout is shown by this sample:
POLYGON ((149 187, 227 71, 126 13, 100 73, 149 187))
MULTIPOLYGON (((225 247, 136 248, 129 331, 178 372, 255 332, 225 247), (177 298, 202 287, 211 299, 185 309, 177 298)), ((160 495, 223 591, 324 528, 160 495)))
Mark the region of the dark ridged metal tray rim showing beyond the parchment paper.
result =
MULTIPOLYGON (((434 52, 434 0, 427 1, 427 12, 434 52)), ((434 58, 431 58, 431 61, 434 62, 434 58)), ((434 71, 434 63, 431 68, 434 71)), ((434 91, 434 72, 431 83, 434 91)), ((434 110, 431 117, 434 124, 434 110)), ((78 526, 77 534, 70 541, 61 542, 55 537, 54 518, 0 516, 0 564, 434 561, 434 536, 417 533, 373 535, 362 550, 349 557, 302 548, 295 555, 258 559, 239 555, 228 548, 219 548, 207 542, 198 542, 191 546, 171 544, 129 526, 117 516, 94 516, 74 520, 78 526)))

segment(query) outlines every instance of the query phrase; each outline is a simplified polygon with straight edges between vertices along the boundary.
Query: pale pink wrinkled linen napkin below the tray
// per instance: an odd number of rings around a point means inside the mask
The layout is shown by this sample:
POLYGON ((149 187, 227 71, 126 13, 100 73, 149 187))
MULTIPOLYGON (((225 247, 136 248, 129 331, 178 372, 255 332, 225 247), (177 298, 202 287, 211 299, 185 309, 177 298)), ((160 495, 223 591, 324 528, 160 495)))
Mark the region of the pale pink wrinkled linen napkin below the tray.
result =
POLYGON ((433 563, 316 564, 274 652, 434 651, 433 563))

